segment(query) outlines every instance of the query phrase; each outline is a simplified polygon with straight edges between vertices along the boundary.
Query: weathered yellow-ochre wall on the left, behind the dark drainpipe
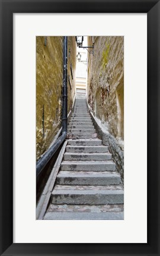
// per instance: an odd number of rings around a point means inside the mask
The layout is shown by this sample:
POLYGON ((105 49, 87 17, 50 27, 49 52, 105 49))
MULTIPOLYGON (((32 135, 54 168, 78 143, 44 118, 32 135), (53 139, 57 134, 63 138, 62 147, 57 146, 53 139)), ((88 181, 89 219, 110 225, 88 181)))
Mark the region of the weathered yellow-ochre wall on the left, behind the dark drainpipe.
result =
MULTIPOLYGON (((68 37, 68 112, 75 94, 76 43, 68 37), (71 64, 73 79, 71 75, 71 64), (69 80, 69 79, 68 79, 69 80), (71 89, 72 87, 72 89, 71 89)), ((36 157, 49 148, 61 126, 63 37, 36 37, 36 157)))

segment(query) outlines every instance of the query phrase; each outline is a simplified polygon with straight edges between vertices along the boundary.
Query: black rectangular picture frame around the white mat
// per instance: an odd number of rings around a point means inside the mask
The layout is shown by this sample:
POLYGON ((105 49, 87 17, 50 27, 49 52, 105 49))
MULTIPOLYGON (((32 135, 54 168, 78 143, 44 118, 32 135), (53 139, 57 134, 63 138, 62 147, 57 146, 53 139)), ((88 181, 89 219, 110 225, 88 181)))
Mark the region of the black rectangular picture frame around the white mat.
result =
MULTIPOLYGON (((1 255, 160 255, 159 10, 157 0, 1 0, 1 255), (147 244, 13 244, 13 14, 147 13, 148 242, 147 244)), ((137 209, 138 210, 138 209, 137 209)), ((134 222, 134 219, 133 219, 134 222)), ((137 230, 138 232, 138 230, 137 230)), ((42 233, 41 236, 44 234, 42 233)))

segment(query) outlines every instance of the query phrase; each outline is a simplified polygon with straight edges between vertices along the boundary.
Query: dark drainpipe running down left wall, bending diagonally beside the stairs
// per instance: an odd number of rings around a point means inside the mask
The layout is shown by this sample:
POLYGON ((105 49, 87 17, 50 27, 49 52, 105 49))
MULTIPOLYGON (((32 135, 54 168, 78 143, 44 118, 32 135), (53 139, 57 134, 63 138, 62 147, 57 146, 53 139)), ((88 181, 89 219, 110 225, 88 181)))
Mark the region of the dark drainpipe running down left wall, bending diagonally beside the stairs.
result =
POLYGON ((67 90, 67 67, 68 61, 68 37, 63 38, 63 87, 62 87, 62 135, 57 141, 46 151, 46 153, 36 163, 36 176, 39 176, 43 168, 47 165, 53 154, 57 151, 67 135, 67 102, 68 102, 68 90, 67 90))

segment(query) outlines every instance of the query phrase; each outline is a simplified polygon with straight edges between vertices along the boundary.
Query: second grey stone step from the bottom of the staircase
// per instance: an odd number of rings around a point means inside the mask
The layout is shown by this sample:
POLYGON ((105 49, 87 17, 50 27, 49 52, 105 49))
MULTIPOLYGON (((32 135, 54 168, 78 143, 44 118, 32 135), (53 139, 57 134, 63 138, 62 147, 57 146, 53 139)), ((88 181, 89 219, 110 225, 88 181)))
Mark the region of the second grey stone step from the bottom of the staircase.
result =
MULTIPOLYGON (((58 185, 57 185, 58 186, 58 185)), ((79 189, 71 189, 73 186, 69 186, 69 189, 66 189, 67 186, 63 189, 53 189, 51 195, 52 204, 123 204, 124 203, 124 193, 123 189, 107 189, 109 186, 101 186, 103 189, 95 187, 94 189, 87 189, 89 186, 79 186, 86 187, 79 189), (106 187, 106 188, 105 188, 106 187)), ((76 186, 77 187, 77 186, 76 186)), ((100 186, 99 186, 100 187, 100 186)), ((114 187, 114 186, 111 186, 114 187)), ((116 187, 116 185, 115 185, 116 187)))

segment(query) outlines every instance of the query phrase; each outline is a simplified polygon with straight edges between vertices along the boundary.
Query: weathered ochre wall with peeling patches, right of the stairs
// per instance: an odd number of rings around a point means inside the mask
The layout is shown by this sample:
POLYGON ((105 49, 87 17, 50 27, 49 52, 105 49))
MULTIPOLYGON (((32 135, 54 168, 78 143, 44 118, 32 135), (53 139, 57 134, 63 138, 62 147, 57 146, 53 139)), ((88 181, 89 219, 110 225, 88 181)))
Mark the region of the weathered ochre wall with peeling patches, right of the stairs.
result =
POLYGON ((88 37, 94 55, 88 55, 87 99, 94 116, 111 135, 108 145, 123 178, 124 38, 88 37))

